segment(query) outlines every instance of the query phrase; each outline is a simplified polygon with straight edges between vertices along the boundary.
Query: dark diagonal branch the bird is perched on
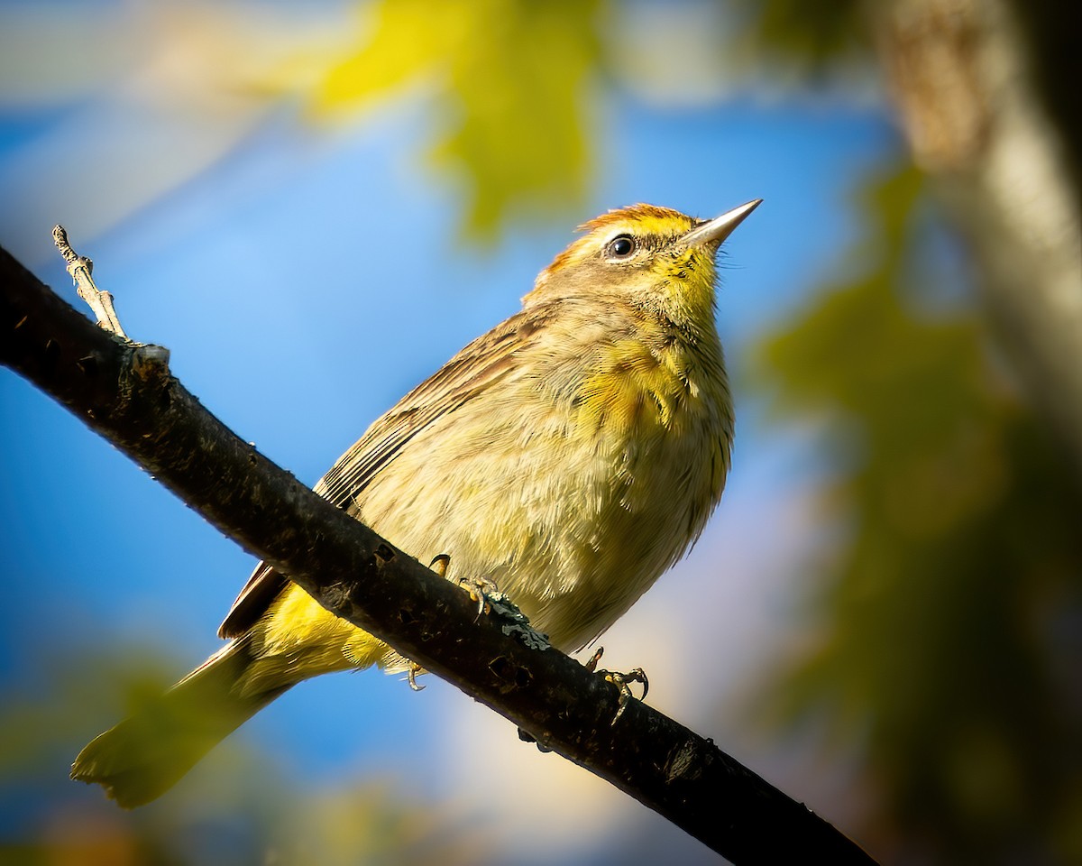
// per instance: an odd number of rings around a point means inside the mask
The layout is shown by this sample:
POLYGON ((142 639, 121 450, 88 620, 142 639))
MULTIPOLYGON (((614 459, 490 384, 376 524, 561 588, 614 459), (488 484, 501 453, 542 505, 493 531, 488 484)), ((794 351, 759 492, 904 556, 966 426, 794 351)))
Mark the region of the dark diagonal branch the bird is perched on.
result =
MULTIPOLYGON (((855 843, 714 744, 497 617, 242 442, 169 372, 0 249, 0 362, 338 616, 457 685, 734 863, 870 864, 855 843)), ((525 746, 524 746, 525 748, 525 746)), ((539 818, 543 821, 543 817, 539 818)))

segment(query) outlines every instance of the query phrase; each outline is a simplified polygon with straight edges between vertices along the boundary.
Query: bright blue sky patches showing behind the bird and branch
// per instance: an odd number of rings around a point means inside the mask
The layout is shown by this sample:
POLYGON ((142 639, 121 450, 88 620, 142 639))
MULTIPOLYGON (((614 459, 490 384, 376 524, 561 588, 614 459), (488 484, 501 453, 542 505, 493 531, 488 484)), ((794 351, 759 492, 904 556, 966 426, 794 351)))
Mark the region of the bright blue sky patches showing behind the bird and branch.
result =
MULTIPOLYGON (((0 14, 17 6, 0 5, 0 14)), ((66 130, 82 124, 107 143, 93 115, 120 111, 115 87, 44 105, 8 91, 0 182, 17 196, 0 212, 0 242, 78 304, 49 251, 52 224, 64 223, 94 259, 129 333, 168 346, 174 373, 208 408, 306 483, 408 388, 514 312, 576 222, 633 201, 710 216, 765 199, 727 244, 722 271, 718 328, 739 382, 743 352, 806 300, 850 242, 850 191, 895 146, 883 110, 867 102, 736 94, 665 108, 616 89, 605 97, 589 204, 566 224, 515 225, 486 247, 462 242, 458 191, 418 158, 423 103, 321 131, 285 105, 261 114, 201 170, 87 228, 93 200, 57 191, 49 160, 95 172, 95 152, 66 130)), ((154 122, 129 115, 126 123, 154 122)), ((116 182, 140 185, 138 176, 116 182)), ((814 541, 802 509, 819 471, 799 432, 768 431, 755 395, 736 397, 735 464, 718 514, 691 559, 661 581, 673 589, 648 593, 631 625, 603 641, 607 658, 619 653, 613 662, 647 668, 651 703, 715 736, 710 725, 724 727, 716 709, 725 696, 788 640, 792 572, 814 541), (672 602, 675 592, 705 593, 711 603, 688 611, 672 602), (729 671, 703 698, 681 672, 667 629, 743 635, 733 646, 745 657, 730 653, 729 671)), ((214 632, 253 564, 8 370, 0 370, 0 694, 40 690, 43 657, 117 641, 163 647, 175 674, 184 673, 219 645, 214 632)), ((414 695, 375 673, 339 675, 294 690, 239 736, 272 746, 302 786, 385 771, 439 797, 457 766, 446 755, 447 729, 488 724, 466 704, 441 684, 414 695), (451 724, 450 713, 470 721, 451 724), (338 736, 343 718, 352 720, 346 743, 338 736)), ((751 749, 753 733, 735 736, 751 749)), ((72 742, 71 755, 81 745, 72 742)), ((775 760, 762 756, 767 765, 775 760)), ((67 783, 65 771, 42 790, 97 796, 67 783)), ((642 818, 637 805, 613 797, 612 826, 642 818)), ((0 777, 0 813, 17 799, 0 777)))

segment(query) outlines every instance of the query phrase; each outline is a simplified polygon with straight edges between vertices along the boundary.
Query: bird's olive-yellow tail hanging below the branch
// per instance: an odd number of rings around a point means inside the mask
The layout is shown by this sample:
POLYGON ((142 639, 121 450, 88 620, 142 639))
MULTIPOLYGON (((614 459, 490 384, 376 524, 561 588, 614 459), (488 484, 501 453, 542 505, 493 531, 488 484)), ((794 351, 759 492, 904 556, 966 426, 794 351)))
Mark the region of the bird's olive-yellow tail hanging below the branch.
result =
POLYGON ((92 740, 71 778, 97 783, 124 809, 175 785, 208 751, 290 684, 253 690, 248 641, 234 641, 130 719, 92 740))

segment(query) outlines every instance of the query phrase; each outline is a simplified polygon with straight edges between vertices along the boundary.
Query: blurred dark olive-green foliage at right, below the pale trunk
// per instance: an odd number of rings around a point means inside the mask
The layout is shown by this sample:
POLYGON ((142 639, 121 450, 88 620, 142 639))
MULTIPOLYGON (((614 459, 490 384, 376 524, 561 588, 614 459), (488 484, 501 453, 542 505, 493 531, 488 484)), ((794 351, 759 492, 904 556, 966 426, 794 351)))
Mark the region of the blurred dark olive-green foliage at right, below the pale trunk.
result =
POLYGON ((908 168, 871 184, 866 270, 755 362, 780 383, 776 417, 824 422, 823 514, 843 538, 776 706, 862 744, 880 821, 944 862, 1064 855, 1082 719, 1051 635, 1082 612, 1082 491, 977 311, 922 303, 950 287, 920 246, 921 191, 908 168))

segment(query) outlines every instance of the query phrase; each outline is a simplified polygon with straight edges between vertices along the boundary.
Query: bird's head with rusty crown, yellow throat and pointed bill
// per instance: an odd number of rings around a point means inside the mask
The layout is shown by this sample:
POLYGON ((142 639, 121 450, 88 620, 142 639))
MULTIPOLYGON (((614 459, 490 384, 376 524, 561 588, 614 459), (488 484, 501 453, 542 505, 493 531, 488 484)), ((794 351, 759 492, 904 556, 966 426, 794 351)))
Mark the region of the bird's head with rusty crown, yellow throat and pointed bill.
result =
POLYGON ((761 202, 754 199, 713 220, 655 205, 603 213, 580 226, 582 237, 538 275, 523 302, 609 296, 674 322, 713 327, 714 257, 761 202))

